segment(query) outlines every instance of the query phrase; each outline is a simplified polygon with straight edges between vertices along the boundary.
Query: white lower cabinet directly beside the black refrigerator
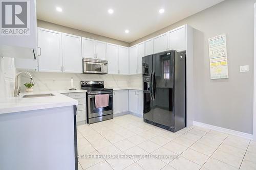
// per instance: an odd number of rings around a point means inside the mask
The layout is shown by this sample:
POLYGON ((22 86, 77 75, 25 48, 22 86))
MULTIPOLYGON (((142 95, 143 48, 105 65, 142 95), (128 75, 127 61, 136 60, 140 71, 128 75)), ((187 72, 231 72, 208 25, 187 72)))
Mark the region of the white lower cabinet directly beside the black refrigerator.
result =
POLYGON ((129 90, 129 111, 142 115, 142 90, 129 90))

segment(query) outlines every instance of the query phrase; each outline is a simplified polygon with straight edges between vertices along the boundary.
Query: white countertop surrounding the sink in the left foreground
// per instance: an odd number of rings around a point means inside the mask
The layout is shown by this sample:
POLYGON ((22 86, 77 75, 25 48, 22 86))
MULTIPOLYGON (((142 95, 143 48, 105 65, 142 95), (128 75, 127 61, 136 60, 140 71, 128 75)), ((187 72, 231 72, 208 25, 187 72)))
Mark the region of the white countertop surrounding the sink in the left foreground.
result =
POLYGON ((0 114, 13 113, 21 111, 49 109, 55 107, 65 107, 78 105, 78 101, 69 98, 66 95, 55 91, 43 91, 32 93, 20 93, 17 97, 7 97, 0 99, 0 114), (42 94, 53 93, 54 96, 39 97, 39 98, 22 98, 26 94, 42 94))

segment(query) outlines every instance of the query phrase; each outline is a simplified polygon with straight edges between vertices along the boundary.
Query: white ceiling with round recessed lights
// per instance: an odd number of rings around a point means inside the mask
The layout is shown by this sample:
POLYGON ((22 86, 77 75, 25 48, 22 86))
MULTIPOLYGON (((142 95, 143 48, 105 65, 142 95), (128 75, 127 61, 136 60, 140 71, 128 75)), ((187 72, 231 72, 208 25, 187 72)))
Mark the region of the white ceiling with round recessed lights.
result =
POLYGON ((37 0, 37 18, 133 42, 224 0, 37 0), (62 12, 57 12, 61 7, 62 12), (110 15, 108 9, 114 13, 110 15), (159 14, 163 8, 164 13, 159 14), (124 30, 130 33, 124 33, 124 30))

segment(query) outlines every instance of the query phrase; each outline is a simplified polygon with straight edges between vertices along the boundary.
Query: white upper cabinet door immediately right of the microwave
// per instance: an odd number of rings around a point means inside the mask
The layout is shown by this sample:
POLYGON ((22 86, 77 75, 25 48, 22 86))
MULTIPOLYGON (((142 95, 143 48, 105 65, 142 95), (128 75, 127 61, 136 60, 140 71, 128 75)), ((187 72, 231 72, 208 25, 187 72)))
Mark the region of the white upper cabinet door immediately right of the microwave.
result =
POLYGON ((108 74, 118 74, 118 45, 108 43, 108 74))

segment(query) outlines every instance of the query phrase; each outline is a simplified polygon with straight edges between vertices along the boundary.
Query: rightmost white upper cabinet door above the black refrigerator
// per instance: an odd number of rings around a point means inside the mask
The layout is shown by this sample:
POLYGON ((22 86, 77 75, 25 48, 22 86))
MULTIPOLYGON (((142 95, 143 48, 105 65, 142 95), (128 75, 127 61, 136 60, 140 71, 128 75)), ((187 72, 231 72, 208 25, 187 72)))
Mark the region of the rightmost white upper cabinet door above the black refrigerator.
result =
POLYGON ((186 30, 181 27, 168 33, 169 49, 177 52, 186 50, 186 30))

